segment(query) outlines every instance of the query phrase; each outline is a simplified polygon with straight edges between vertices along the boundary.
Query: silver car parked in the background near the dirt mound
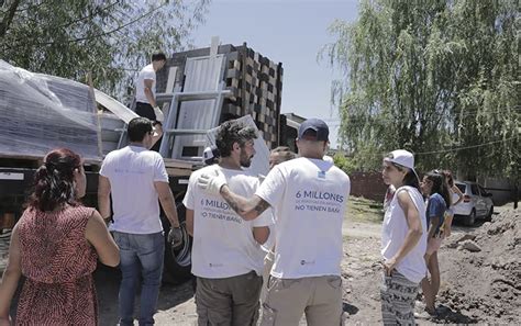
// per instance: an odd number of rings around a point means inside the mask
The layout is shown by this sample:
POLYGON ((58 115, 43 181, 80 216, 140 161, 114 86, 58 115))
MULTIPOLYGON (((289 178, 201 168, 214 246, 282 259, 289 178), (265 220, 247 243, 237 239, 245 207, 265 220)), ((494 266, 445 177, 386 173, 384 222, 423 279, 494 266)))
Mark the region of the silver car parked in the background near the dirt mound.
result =
POLYGON ((465 225, 474 225, 476 218, 491 221, 494 213, 492 194, 476 182, 455 181, 463 193, 463 201, 454 206, 454 218, 465 225))

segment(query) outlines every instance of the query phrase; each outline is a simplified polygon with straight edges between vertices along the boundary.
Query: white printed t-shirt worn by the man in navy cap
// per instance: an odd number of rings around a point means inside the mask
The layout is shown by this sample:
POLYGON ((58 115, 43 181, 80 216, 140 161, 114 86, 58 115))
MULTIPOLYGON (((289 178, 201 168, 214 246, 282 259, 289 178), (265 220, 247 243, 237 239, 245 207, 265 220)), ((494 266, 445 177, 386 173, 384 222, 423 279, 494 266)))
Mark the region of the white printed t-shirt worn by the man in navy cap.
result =
POLYGON ((275 209, 271 276, 340 276, 342 222, 351 181, 332 162, 296 158, 269 171, 256 195, 275 209))

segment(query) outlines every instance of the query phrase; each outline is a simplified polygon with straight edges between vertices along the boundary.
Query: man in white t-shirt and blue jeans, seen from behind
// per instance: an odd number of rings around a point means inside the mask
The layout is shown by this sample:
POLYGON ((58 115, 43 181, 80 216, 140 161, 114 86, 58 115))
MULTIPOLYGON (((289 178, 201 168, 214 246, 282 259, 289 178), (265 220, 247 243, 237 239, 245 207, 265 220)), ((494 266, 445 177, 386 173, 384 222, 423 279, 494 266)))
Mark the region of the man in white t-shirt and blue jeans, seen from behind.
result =
POLYGON ((182 243, 182 232, 163 157, 148 150, 152 122, 135 117, 129 123, 128 134, 130 145, 109 153, 103 160, 98 204, 101 216, 109 220, 112 194, 114 214, 109 228, 120 247, 120 325, 134 325, 134 296, 140 282, 140 325, 153 325, 165 252, 158 201, 171 225, 168 241, 173 246, 182 243))

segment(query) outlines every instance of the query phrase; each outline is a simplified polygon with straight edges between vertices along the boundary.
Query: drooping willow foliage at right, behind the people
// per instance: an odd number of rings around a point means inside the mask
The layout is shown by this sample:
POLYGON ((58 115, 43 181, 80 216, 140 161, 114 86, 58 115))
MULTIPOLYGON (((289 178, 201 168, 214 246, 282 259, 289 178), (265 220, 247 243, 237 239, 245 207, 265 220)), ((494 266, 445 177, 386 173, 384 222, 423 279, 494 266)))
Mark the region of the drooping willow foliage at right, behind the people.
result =
POLYGON ((519 178, 519 25, 511 0, 366 0, 335 21, 323 54, 357 168, 406 148, 423 170, 519 178))

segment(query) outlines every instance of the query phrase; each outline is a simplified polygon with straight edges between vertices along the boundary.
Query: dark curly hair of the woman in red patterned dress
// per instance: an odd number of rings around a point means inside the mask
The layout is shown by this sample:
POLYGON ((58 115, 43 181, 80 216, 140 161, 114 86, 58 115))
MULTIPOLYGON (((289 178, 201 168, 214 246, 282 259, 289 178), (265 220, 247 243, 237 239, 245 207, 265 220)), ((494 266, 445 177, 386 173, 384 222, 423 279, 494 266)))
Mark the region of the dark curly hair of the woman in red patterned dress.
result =
POLYGON ((33 192, 27 206, 43 212, 63 204, 77 206, 74 170, 81 167, 79 155, 67 148, 49 151, 34 175, 33 192))

